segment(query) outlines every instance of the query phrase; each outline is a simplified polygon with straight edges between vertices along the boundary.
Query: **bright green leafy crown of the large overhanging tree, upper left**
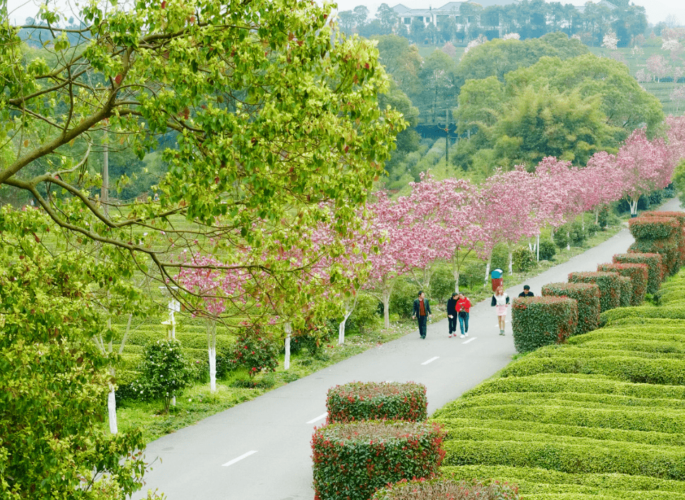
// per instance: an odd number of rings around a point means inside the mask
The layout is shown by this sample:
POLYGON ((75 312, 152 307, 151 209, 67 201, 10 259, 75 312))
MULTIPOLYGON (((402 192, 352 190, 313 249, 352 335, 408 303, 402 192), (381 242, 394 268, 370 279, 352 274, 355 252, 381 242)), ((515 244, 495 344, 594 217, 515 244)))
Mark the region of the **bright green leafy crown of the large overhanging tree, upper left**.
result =
POLYGON ((404 128, 377 104, 388 84, 377 51, 341 35, 331 8, 87 1, 76 45, 59 13, 42 12, 51 29, 35 29, 47 48, 31 59, 4 17, 0 185, 29 193, 79 239, 114 246, 119 258, 147 255, 151 267, 140 268, 165 280, 184 247, 214 242, 226 268, 250 277, 233 311, 267 301, 293 316, 289 304, 349 283, 298 286, 322 255, 293 263, 283 248, 309 249, 313 228, 332 223, 336 239, 321 252, 343 252, 404 128), (102 177, 88 165, 104 133, 139 158, 174 135, 159 201, 103 202, 102 177))

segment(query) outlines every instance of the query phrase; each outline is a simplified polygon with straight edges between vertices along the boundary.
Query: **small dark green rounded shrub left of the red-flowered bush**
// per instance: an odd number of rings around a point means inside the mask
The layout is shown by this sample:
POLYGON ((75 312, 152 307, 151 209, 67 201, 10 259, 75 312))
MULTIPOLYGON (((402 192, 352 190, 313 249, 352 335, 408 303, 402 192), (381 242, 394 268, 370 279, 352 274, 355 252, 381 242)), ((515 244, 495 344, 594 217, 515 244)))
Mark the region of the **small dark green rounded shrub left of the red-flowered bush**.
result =
POLYGON ((145 347, 140 377, 133 383, 139 399, 162 399, 164 413, 171 399, 179 396, 190 382, 190 370, 176 339, 157 340, 145 347))

